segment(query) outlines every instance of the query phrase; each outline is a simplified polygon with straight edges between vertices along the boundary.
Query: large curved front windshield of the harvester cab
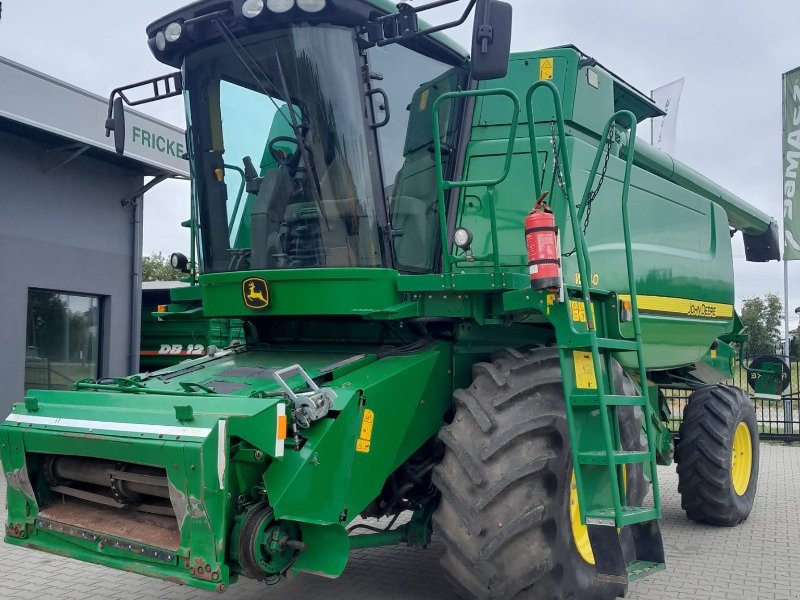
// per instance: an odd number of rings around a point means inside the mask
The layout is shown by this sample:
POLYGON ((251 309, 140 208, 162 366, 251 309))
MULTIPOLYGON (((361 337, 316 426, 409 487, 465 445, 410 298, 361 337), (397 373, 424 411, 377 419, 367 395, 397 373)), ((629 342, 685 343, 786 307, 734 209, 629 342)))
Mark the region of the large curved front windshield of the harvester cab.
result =
POLYGON ((203 271, 383 264, 356 56, 293 27, 187 57, 203 271))

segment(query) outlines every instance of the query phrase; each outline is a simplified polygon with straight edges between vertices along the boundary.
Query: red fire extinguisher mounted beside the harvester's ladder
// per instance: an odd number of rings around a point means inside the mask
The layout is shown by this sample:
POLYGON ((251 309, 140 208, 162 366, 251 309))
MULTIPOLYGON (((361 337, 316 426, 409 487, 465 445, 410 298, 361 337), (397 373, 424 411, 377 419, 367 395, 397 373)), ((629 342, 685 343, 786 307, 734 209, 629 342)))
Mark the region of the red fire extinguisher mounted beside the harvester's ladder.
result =
POLYGON ((544 203, 546 197, 547 192, 544 192, 525 217, 525 245, 528 247, 531 287, 557 291, 561 287, 558 227, 553 211, 544 203))

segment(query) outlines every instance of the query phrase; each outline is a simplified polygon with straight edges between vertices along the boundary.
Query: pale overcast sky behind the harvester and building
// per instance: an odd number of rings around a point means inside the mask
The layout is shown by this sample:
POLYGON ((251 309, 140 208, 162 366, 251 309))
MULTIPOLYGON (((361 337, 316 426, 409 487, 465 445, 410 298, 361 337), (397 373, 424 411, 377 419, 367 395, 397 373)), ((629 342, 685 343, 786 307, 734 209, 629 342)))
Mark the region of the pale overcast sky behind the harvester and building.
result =
MULTIPOLYGON (((186 3, 5 0, 0 55, 106 95, 118 85, 169 71, 150 54, 144 29, 186 3)), ((431 12, 430 20, 449 20, 465 3, 431 12)), ((781 221, 781 73, 800 65, 800 2, 512 4, 513 50, 575 44, 646 92, 685 77, 676 158, 781 221)), ((466 27, 452 35, 468 45, 466 27)), ((184 124, 178 100, 145 109, 184 124)), ((187 250, 188 235, 177 224, 188 218, 188 203, 186 183, 163 183, 147 194, 146 253, 187 250)), ((746 263, 738 241, 734 255, 739 300, 769 291, 783 297, 782 263, 746 263)), ((789 275, 794 327, 800 267, 790 263, 789 275)))

